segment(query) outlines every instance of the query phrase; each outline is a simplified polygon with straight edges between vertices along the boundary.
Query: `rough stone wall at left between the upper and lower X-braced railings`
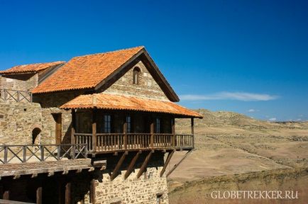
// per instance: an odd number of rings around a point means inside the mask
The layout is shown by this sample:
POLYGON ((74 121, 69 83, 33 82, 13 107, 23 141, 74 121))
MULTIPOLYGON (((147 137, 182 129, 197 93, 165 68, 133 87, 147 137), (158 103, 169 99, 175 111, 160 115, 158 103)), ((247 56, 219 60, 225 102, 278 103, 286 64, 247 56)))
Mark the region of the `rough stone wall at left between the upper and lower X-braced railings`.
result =
POLYGON ((42 126, 40 104, 0 101, 1 145, 32 144, 32 131, 42 126))

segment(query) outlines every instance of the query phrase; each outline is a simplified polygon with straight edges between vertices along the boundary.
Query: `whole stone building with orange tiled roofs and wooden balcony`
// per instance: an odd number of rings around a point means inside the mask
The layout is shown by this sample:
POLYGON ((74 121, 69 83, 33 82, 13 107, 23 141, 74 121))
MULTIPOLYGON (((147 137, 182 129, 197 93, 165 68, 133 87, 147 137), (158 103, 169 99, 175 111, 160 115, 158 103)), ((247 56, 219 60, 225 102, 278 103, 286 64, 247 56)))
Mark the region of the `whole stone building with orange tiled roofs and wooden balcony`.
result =
POLYGON ((168 203, 166 166, 194 148, 202 115, 175 103, 144 47, 0 74, 0 199, 168 203), (175 134, 175 118, 192 132, 175 134))

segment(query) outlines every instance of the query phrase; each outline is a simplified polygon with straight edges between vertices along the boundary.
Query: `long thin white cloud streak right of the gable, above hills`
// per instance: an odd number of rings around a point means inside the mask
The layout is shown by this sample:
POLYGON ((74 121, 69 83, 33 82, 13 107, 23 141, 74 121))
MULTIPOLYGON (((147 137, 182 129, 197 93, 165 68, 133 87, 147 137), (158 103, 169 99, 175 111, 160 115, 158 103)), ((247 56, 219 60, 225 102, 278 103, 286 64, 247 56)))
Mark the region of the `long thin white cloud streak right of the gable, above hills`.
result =
POLYGON ((182 95, 184 101, 208 101, 208 100, 236 100, 236 101, 270 101, 275 100, 278 96, 269 94, 255 94, 247 92, 219 92, 216 94, 206 95, 182 95))

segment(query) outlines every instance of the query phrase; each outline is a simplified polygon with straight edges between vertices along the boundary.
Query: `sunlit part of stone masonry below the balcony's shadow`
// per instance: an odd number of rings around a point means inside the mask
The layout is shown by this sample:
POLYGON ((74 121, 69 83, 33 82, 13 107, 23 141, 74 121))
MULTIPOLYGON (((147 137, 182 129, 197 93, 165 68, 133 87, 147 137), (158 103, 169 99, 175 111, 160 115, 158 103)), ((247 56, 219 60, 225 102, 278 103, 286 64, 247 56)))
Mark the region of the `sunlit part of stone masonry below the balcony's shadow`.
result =
POLYGON ((161 169, 162 167, 148 167, 139 179, 136 179, 139 169, 135 169, 126 180, 123 179, 126 171, 121 171, 121 175, 114 181, 110 181, 109 174, 103 174, 101 182, 95 182, 97 203, 155 204, 159 195, 162 195, 160 203, 168 203, 167 179, 165 176, 160 177, 161 169))

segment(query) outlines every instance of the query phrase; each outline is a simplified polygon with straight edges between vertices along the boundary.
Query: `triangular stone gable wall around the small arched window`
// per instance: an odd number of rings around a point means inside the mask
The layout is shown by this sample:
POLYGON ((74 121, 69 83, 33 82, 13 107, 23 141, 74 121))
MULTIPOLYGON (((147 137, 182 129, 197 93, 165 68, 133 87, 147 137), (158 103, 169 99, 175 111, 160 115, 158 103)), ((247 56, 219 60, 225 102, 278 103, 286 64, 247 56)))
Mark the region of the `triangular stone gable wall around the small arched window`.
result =
POLYGON ((114 84, 104 90, 106 94, 119 94, 127 96, 138 96, 142 98, 152 98, 163 101, 169 101, 165 93, 160 88, 158 83, 153 79, 148 69, 143 62, 138 62, 136 66, 128 70, 123 76, 114 84), (133 69, 138 67, 141 69, 139 74, 139 83, 133 84, 133 69))

